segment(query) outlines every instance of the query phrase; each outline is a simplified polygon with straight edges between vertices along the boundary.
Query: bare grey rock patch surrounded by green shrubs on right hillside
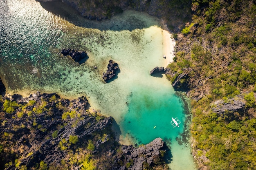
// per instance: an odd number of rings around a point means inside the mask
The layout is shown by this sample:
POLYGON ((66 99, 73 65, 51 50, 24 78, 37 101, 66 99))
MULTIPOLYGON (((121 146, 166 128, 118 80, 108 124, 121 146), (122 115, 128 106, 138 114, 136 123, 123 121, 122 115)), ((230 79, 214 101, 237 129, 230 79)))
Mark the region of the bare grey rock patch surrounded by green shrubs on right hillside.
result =
POLYGON ((222 114, 226 111, 236 112, 245 107, 245 100, 242 95, 237 95, 234 98, 227 99, 227 101, 220 99, 211 104, 212 110, 215 113, 222 114))

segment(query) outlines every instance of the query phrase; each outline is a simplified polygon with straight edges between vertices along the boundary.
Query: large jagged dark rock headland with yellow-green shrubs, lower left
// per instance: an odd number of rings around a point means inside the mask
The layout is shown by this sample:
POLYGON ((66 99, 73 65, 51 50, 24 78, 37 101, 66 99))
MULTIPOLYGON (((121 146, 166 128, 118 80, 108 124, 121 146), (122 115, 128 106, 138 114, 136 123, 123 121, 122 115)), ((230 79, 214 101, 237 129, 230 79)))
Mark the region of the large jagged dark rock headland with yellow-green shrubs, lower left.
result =
POLYGON ((4 99, 4 104, 0 101, 0 148, 4 144, 0 164, 5 166, 0 170, 37 165, 76 170, 90 162, 99 170, 142 170, 165 164, 162 139, 139 148, 120 146, 111 130, 113 118, 89 113, 85 97, 70 101, 56 93, 37 92, 4 99))

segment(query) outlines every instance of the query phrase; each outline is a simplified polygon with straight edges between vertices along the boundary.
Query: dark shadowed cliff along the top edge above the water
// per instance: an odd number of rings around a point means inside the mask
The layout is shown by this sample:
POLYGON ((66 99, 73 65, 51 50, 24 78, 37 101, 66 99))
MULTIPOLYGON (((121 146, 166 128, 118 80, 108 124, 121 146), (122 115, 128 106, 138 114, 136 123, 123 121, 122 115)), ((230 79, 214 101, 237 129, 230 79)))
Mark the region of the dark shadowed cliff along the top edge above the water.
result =
MULTIPOLYGON (((48 5, 51 6, 55 4, 55 2, 51 1, 56 0, 37 1, 41 4, 43 3, 43 7, 47 7, 48 5)), ((170 0, 163 0, 161 2, 159 0, 108 0, 104 1, 104 3, 99 3, 98 1, 90 1, 89 3, 82 0, 61 0, 61 3, 66 4, 68 8, 71 7, 72 9, 70 10, 78 11, 85 18, 97 21, 109 19, 113 15, 122 13, 126 9, 144 11, 149 15, 157 16, 165 20, 167 22, 166 24, 171 25, 175 32, 180 31, 180 28, 184 27, 184 20, 190 18, 191 15, 191 9, 186 1, 176 3, 170 0)), ((55 8, 58 8, 58 5, 56 5, 55 8)))

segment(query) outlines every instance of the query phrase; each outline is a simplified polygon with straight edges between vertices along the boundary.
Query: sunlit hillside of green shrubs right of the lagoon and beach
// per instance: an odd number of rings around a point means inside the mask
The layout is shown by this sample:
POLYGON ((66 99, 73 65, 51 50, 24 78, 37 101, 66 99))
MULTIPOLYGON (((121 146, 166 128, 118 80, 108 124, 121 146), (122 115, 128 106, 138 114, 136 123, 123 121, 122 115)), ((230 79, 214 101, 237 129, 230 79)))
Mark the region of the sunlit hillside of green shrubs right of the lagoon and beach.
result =
POLYGON ((192 0, 192 21, 177 39, 174 80, 189 68, 193 149, 199 169, 256 169, 256 4, 192 0), (193 24, 192 24, 193 23, 193 24), (189 43, 187 43, 189 42, 189 43), (241 111, 213 113, 218 99, 244 96, 241 111))

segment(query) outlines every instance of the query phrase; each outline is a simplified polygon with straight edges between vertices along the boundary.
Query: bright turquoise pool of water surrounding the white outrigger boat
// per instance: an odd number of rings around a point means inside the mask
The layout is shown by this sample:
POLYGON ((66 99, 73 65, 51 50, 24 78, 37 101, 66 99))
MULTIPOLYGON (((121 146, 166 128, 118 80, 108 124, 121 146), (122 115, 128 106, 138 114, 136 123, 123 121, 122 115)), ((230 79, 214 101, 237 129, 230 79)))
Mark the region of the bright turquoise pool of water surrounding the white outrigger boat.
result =
POLYGON ((157 137, 172 139, 182 133, 170 124, 171 117, 178 117, 183 124, 183 108, 171 87, 135 87, 129 97, 129 110, 121 126, 138 144, 148 144, 157 137), (148 90, 150 88, 150 91, 148 90))

